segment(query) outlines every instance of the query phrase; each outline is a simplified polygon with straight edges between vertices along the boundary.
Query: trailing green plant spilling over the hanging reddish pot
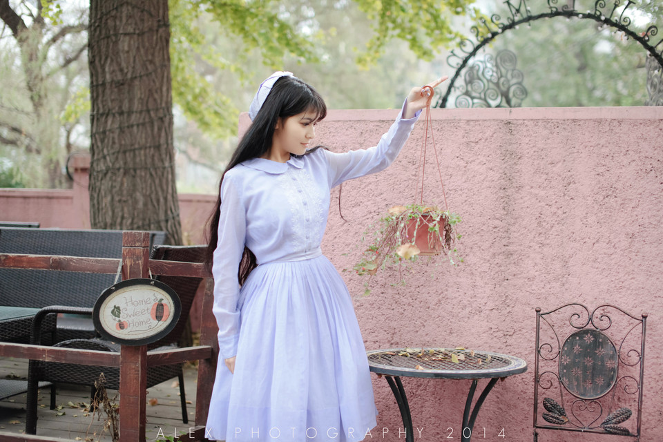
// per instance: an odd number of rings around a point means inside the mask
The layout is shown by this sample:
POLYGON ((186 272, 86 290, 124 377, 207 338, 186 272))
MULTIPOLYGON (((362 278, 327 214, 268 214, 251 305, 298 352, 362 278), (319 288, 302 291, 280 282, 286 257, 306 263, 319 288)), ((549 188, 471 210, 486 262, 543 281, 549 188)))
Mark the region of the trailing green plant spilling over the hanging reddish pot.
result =
MULTIPOLYGON (((415 244, 421 229, 427 232, 428 247, 436 249, 436 253, 427 254, 443 254, 450 264, 458 265, 463 262, 456 248, 456 241, 461 239, 456 231, 459 222, 459 215, 436 206, 393 206, 364 231, 361 243, 369 244, 353 269, 360 276, 371 277, 379 269, 398 267, 398 284, 404 285, 401 272, 403 265, 412 265, 421 260, 421 249, 415 244)), ((367 295, 370 293, 368 282, 365 288, 364 294, 367 295)))

